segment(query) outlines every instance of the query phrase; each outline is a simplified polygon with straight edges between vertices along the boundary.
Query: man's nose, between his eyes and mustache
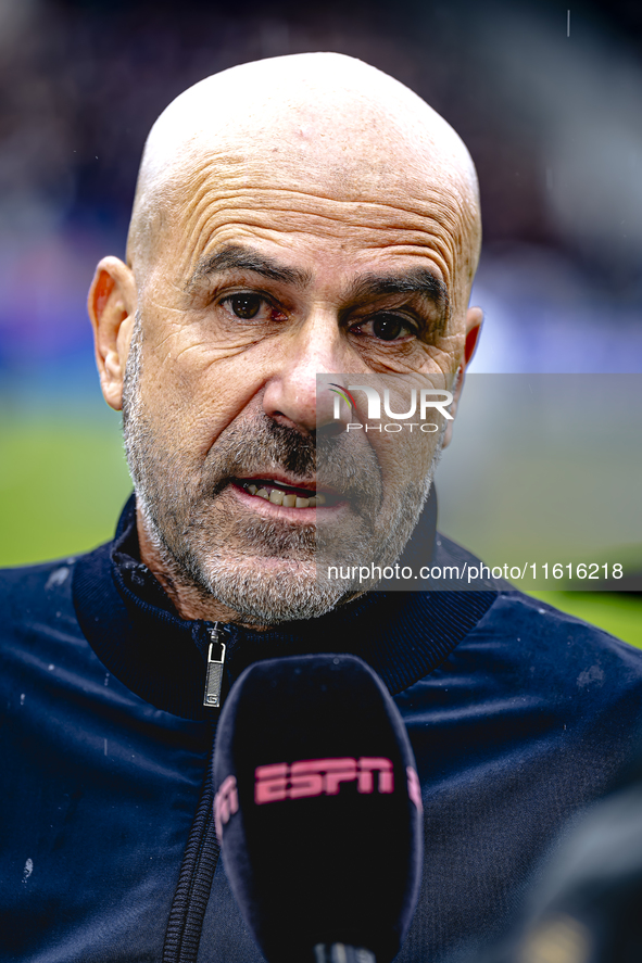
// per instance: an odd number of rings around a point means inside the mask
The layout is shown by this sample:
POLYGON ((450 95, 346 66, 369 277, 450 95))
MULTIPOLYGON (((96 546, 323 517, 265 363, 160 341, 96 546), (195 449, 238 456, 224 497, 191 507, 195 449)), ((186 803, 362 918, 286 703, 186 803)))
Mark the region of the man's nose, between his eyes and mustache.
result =
POLYGON ((333 421, 333 395, 317 395, 317 375, 355 370, 355 358, 331 311, 317 309, 295 331, 279 339, 277 370, 263 395, 263 409, 275 421, 305 433, 333 421))

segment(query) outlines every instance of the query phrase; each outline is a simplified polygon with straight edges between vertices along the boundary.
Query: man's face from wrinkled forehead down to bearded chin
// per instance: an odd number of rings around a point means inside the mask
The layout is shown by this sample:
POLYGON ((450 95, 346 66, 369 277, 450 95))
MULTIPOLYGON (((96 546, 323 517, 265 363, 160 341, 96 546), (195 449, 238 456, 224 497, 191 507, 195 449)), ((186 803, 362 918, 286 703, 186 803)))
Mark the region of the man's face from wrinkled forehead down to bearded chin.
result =
POLYGON ((463 228, 439 183, 417 197, 364 170, 354 201, 340 170, 269 160, 203 157, 174 189, 137 275, 124 396, 150 535, 202 596, 259 624, 350 596, 316 571, 317 527, 342 563, 393 562, 441 445, 441 431, 348 438, 317 373, 449 388, 465 339, 463 228))

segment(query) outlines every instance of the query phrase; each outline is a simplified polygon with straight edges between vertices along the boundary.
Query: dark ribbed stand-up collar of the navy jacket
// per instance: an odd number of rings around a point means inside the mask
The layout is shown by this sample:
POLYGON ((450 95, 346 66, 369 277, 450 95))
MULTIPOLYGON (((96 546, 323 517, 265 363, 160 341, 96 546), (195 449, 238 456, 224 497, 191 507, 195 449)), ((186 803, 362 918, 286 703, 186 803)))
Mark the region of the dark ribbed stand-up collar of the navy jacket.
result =
MULTIPOLYGON (((433 496, 400 565, 418 557, 421 563, 430 561, 436 517, 433 496)), ((438 544, 443 553, 450 543, 440 536, 438 544)), ((134 495, 113 542, 77 560, 73 594, 78 622, 96 655, 136 695, 186 719, 211 719, 217 712, 202 706, 212 623, 181 619, 140 561, 134 495)), ((223 696, 254 661, 323 651, 360 656, 396 694, 436 669, 495 597, 494 591, 370 592, 318 619, 267 632, 223 625, 223 696)))

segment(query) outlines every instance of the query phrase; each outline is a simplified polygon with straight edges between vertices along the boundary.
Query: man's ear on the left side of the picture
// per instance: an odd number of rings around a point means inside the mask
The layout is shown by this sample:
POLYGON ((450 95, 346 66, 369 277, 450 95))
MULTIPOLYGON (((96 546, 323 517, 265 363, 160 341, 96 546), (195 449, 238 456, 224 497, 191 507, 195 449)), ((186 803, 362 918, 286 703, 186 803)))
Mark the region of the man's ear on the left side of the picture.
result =
POLYGON ((117 257, 103 257, 89 289, 96 363, 104 400, 119 411, 123 380, 136 317, 136 283, 131 268, 117 257))

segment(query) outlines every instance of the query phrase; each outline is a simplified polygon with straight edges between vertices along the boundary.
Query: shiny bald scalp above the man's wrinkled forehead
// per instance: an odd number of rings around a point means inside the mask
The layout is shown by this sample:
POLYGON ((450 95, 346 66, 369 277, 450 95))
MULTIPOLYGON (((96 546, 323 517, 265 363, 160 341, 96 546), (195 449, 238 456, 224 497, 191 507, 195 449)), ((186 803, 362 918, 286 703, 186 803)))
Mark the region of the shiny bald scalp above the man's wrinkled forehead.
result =
POLYGON ((343 204, 415 200, 449 231, 467 287, 480 242, 468 151, 420 98, 337 53, 274 58, 196 84, 161 114, 140 167, 128 259, 144 269, 203 181, 234 203, 287 190, 343 204))

